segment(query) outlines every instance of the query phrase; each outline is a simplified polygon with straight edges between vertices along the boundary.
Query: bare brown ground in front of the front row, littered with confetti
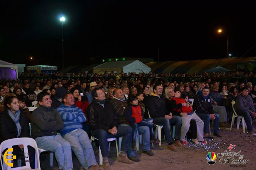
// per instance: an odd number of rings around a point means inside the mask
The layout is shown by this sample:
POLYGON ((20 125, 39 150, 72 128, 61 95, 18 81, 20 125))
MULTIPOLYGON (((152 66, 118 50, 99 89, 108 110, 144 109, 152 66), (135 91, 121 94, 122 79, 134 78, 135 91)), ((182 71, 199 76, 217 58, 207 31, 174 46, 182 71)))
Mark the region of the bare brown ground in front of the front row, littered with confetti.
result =
MULTIPOLYGON (((255 129, 256 126, 253 125, 253 128, 255 129)), ((212 128, 211 128, 212 129, 212 128)), ((255 130, 256 131, 256 130, 255 130)), ((205 150, 204 148, 194 148, 194 147, 188 147, 184 146, 182 148, 179 148, 178 152, 173 152, 168 150, 167 143, 163 142, 161 146, 154 145, 154 148, 152 148, 152 151, 155 153, 154 156, 148 156, 144 153, 142 153, 142 145, 140 144, 140 151, 137 152, 138 156, 141 158, 141 161, 138 163, 135 163, 133 165, 128 165, 124 163, 120 163, 117 161, 116 157, 116 150, 115 150, 115 143, 112 142, 111 144, 111 150, 110 150, 110 165, 112 166, 113 170, 129 170, 129 169, 136 169, 136 170, 167 170, 167 169, 175 169, 175 170, 194 170, 194 169, 205 169, 205 168, 214 168, 214 169, 246 169, 246 170, 253 170, 256 169, 256 144, 254 141, 256 141, 256 136, 251 136, 248 134, 244 134, 242 132, 242 126, 239 130, 236 128, 232 128, 232 131, 230 131, 227 128, 221 128, 220 132, 221 135, 223 135, 222 138, 214 138, 215 142, 221 142, 219 144, 218 149, 214 150, 205 150), (207 153, 208 152, 215 152, 216 155, 219 152, 224 152, 230 145, 230 143, 236 145, 234 149, 231 151, 233 152, 239 152, 241 150, 240 155, 244 155, 243 159, 249 159, 247 164, 220 164, 219 159, 216 159, 216 163, 214 165, 208 165, 207 164, 207 153)), ((213 141, 210 141, 212 144, 213 141)), ((94 147, 95 151, 95 157, 96 161, 99 163, 99 149, 97 146, 94 147)), ((49 157, 48 154, 42 154, 42 156, 46 156, 46 158, 41 162, 41 169, 58 169, 58 164, 56 162, 56 159, 54 158, 53 162, 53 168, 49 167, 49 157)), ((73 166, 74 170, 82 170, 83 168, 77 161, 75 155, 72 155, 73 157, 73 166)), ((223 158, 226 158, 229 156, 224 156, 223 158)), ((239 156, 234 156, 234 159, 239 159, 239 156)))

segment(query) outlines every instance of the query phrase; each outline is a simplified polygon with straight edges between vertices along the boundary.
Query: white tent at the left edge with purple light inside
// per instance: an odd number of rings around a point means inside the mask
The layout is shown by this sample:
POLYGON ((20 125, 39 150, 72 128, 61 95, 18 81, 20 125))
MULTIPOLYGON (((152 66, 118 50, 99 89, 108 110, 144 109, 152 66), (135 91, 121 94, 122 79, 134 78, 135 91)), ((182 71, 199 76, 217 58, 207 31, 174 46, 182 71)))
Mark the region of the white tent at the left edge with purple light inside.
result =
POLYGON ((17 79, 18 78, 18 66, 6 61, 0 60, 0 77, 5 79, 17 79))

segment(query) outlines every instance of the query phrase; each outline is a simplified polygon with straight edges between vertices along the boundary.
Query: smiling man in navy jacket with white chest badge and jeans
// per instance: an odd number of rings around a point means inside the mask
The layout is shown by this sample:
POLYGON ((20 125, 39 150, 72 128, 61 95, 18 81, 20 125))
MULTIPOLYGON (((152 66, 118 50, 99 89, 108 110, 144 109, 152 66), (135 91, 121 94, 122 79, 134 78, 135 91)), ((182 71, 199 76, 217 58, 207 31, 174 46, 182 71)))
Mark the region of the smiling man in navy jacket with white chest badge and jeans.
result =
POLYGON ((196 114, 204 121, 203 132, 204 137, 209 137, 209 122, 213 122, 213 135, 222 137, 218 134, 219 131, 219 115, 214 113, 211 99, 209 97, 210 90, 208 87, 204 87, 202 91, 199 91, 194 99, 193 110, 196 110, 196 114))

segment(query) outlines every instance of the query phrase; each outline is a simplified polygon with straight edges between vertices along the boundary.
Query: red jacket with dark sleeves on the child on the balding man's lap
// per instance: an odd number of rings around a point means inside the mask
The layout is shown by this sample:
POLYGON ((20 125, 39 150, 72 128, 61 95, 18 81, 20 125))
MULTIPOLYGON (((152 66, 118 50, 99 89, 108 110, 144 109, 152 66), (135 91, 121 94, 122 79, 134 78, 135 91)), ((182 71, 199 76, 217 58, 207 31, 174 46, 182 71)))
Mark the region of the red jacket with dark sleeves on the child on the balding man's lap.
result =
POLYGON ((125 112, 125 119, 127 123, 140 123, 143 121, 144 113, 139 105, 131 106, 129 105, 125 112))

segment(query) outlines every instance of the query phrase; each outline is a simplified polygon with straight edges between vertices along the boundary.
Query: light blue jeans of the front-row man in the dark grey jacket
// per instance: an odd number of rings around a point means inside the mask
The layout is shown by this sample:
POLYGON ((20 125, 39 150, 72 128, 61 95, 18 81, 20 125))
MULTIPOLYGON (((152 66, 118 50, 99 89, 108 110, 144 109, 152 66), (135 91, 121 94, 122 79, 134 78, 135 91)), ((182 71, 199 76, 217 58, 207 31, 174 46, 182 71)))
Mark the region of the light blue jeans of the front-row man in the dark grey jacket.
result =
POLYGON ((37 137, 35 141, 38 148, 54 152, 59 169, 73 169, 70 144, 60 135, 37 137))

